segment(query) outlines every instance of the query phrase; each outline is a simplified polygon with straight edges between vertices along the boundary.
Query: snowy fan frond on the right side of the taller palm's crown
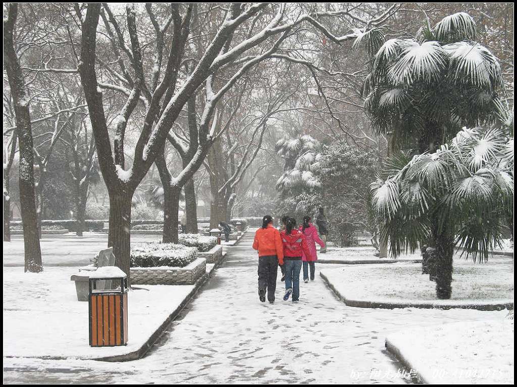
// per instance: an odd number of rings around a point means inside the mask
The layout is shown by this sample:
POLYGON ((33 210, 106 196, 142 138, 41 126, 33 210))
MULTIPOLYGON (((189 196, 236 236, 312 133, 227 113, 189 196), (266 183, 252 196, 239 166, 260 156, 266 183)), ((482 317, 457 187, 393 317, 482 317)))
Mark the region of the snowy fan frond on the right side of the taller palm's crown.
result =
POLYGON ((443 46, 450 58, 449 72, 455 82, 493 89, 501 84, 497 58, 476 42, 457 42, 443 46))

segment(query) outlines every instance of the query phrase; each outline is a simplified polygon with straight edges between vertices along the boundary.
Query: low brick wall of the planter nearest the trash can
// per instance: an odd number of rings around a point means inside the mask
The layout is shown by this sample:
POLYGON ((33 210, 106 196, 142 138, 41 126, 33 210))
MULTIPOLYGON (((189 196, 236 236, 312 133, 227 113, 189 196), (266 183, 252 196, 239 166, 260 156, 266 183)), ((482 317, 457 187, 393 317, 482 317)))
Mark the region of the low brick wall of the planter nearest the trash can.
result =
POLYGON ((193 285, 206 273, 206 259, 198 258, 185 267, 132 267, 130 271, 135 285, 193 285))

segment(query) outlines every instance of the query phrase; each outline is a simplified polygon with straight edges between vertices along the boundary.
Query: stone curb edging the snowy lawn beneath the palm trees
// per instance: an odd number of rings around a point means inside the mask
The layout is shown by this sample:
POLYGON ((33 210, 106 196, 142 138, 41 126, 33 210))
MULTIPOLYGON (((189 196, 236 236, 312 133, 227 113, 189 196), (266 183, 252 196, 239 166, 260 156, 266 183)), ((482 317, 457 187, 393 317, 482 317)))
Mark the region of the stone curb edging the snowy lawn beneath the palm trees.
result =
POLYGON ((320 271, 320 277, 323 278, 327 286, 339 297, 341 301, 349 307, 356 308, 381 308, 381 309, 398 309, 398 308, 421 308, 421 309, 476 309, 478 311, 500 311, 504 309, 513 309, 513 301, 507 300, 503 303, 463 303, 463 304, 436 304, 432 301, 428 302, 412 302, 410 300, 399 302, 386 302, 380 300, 351 300, 343 297, 343 295, 332 285, 327 276, 320 271))

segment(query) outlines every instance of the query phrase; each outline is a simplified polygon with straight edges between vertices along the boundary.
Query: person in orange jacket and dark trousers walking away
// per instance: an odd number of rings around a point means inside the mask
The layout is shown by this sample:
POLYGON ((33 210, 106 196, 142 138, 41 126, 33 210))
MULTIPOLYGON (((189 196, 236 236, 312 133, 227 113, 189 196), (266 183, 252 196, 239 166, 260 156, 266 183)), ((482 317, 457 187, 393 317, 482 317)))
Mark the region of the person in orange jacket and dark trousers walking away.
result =
POLYGON ((284 253, 280 232, 273 227, 273 218, 262 218, 262 228, 255 232, 253 249, 258 251, 258 298, 261 302, 275 302, 278 265, 284 264, 284 253))

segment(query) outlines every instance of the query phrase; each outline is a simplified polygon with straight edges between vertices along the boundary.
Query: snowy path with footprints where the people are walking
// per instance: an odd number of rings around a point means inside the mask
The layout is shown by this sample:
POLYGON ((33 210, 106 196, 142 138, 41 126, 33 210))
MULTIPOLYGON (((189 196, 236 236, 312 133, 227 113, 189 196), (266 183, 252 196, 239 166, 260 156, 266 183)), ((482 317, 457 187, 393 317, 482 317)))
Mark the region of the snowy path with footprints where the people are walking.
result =
POLYGON ((500 317, 470 310, 351 308, 319 276, 300 284, 298 304, 281 299, 280 277, 277 302, 261 303, 252 237, 249 232, 229 249, 225 264, 145 358, 4 359, 4 382, 404 383, 399 363, 384 350, 388 333, 500 317))

